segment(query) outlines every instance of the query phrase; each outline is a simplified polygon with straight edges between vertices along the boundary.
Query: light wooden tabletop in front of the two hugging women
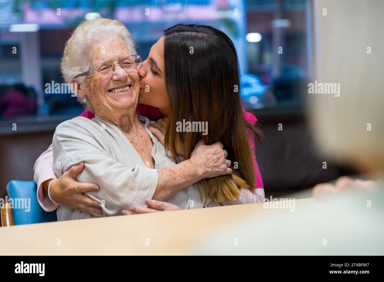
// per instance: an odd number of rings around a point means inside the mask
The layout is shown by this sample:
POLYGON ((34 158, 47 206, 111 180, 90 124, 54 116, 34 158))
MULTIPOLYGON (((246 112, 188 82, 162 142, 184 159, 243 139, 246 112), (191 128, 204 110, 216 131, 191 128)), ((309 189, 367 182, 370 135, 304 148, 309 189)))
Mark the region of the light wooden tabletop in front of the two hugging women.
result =
POLYGON ((260 203, 2 227, 0 244, 3 256, 187 255, 203 233, 270 212, 260 203))

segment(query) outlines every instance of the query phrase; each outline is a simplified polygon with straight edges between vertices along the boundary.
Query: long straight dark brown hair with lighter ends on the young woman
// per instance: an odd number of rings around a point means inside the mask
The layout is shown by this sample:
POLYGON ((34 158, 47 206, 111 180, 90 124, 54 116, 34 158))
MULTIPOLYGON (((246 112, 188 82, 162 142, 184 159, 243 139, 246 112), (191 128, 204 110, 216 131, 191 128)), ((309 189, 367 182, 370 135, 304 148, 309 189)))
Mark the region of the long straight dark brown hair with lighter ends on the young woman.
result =
POLYGON ((165 146, 175 162, 176 140, 190 155, 200 139, 210 145, 222 142, 232 162, 232 175, 205 178, 197 183, 200 196, 216 203, 233 201, 239 189, 253 191, 255 172, 246 129, 261 141, 260 129, 242 112, 239 65, 235 46, 220 30, 205 25, 177 24, 164 31, 165 80, 170 113, 165 146), (177 122, 208 122, 208 133, 177 132, 177 122), (238 168, 233 168, 237 162, 238 168))

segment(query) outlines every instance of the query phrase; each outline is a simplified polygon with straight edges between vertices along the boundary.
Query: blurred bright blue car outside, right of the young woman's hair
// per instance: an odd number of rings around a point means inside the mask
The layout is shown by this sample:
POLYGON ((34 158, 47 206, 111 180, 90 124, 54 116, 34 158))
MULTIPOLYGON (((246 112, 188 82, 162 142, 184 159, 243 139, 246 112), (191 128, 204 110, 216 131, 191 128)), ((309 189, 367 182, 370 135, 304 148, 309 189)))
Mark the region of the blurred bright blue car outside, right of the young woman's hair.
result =
POLYGON ((246 104, 257 104, 266 92, 267 87, 254 74, 243 74, 240 77, 240 96, 246 104))

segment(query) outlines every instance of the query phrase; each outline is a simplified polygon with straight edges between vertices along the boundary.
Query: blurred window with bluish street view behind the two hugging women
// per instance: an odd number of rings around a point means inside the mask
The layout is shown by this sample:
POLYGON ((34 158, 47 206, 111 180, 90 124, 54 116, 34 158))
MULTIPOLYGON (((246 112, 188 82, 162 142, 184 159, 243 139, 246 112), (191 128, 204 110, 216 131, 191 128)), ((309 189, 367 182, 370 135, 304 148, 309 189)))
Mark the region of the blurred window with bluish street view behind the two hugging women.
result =
POLYGON ((83 111, 76 97, 47 93, 45 86, 64 82, 60 59, 65 42, 89 12, 122 21, 137 42, 137 53, 143 60, 165 28, 179 22, 215 26, 227 33, 237 48, 242 71, 240 93, 245 108, 300 105, 303 85, 311 69, 308 52, 311 3, 311 0, 4 0, 0 15, 5 15, 9 25, 38 24, 40 29, 35 42, 31 42, 33 36, 12 33, 4 20, 0 22, 0 119, 74 116, 83 111), (38 50, 33 46, 38 46, 38 50), (15 54, 14 47, 18 50, 15 54), (34 58, 40 66, 23 69, 27 65, 25 61, 33 64, 34 58), (29 75, 41 83, 26 81, 29 75), (20 103, 26 103, 25 107, 15 110, 20 103))

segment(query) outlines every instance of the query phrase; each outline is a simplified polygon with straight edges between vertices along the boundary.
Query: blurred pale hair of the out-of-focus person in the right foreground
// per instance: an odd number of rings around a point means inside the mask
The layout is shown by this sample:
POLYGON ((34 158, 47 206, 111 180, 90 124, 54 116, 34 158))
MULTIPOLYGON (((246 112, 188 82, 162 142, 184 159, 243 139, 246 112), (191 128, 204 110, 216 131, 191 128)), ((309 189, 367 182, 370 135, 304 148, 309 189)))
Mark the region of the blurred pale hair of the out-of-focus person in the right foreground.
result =
POLYGON ((307 94, 316 140, 339 161, 353 161, 356 153, 384 159, 384 2, 314 3, 313 80, 340 85, 339 97, 307 94), (324 7, 326 16, 321 13, 324 7))

